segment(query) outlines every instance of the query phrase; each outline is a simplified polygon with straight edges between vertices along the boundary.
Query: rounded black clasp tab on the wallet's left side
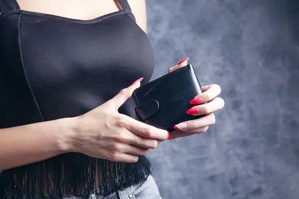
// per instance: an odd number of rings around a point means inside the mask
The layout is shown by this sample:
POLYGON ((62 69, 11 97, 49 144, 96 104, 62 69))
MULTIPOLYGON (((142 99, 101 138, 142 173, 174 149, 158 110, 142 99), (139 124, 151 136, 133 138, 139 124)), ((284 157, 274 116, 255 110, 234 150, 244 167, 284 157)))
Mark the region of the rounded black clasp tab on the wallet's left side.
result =
POLYGON ((154 115, 159 109, 159 103, 155 99, 150 99, 145 103, 142 103, 135 107, 135 112, 140 121, 148 119, 154 115))

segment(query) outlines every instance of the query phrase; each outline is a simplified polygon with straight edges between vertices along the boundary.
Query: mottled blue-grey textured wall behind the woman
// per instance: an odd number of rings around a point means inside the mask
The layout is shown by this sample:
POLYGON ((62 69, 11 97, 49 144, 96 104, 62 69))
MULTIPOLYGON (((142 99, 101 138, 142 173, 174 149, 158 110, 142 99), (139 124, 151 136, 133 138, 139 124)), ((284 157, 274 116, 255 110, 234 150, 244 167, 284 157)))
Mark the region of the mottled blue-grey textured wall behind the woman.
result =
POLYGON ((185 57, 224 109, 149 152, 163 199, 299 199, 299 1, 148 0, 153 79, 185 57))

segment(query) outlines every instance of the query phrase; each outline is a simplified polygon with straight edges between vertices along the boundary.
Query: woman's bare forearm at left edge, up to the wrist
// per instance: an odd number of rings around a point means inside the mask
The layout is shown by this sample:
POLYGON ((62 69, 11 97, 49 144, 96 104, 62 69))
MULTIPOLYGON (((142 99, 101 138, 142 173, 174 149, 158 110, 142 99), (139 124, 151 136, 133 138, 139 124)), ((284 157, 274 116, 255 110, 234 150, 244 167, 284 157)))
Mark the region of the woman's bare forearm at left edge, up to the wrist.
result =
POLYGON ((45 160, 69 150, 71 118, 0 129, 0 170, 45 160))

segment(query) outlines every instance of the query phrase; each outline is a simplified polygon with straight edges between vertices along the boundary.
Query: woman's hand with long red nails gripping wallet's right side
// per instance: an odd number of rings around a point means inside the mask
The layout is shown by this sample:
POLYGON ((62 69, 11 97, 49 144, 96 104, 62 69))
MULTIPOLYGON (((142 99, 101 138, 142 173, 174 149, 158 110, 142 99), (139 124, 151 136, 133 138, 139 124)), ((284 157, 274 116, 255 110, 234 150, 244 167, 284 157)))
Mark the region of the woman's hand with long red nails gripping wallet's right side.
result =
MULTIPOLYGON (((186 66, 188 59, 189 58, 185 58, 176 66, 169 68, 168 73, 186 66)), ((210 125, 215 124, 215 115, 213 112, 223 108, 224 106, 224 100, 217 97, 221 92, 221 88, 216 84, 202 86, 201 88, 203 90, 203 93, 198 96, 194 96, 194 99, 190 101, 190 103, 194 104, 194 106, 189 110, 186 110, 186 113, 192 115, 207 115, 198 119, 188 120, 176 124, 173 128, 177 130, 171 132, 170 139, 203 133, 208 129, 210 125), (208 103, 197 105, 203 102, 208 103)))

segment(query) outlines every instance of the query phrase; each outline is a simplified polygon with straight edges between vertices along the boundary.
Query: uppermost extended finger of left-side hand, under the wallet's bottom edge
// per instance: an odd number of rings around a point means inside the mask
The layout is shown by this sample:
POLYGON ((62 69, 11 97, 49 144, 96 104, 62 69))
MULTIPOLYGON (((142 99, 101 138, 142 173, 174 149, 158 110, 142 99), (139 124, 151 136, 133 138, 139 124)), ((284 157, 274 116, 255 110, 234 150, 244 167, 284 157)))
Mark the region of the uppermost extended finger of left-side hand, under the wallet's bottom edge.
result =
POLYGON ((119 121, 116 121, 116 125, 125 127, 132 133, 157 140, 166 140, 169 136, 169 132, 167 130, 156 128, 144 122, 138 121, 128 115, 122 115, 123 117, 121 117, 119 121))

